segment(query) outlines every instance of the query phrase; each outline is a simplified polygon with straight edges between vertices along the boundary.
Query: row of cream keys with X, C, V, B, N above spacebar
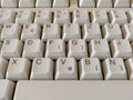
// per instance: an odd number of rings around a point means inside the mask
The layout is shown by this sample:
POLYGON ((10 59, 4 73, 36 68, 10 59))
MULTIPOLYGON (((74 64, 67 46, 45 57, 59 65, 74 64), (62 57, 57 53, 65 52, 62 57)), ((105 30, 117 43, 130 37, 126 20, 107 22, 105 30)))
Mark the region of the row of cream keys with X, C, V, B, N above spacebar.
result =
POLYGON ((0 58, 0 79, 18 80, 133 80, 133 58, 125 62, 121 58, 0 58), (102 64, 102 66, 101 66, 102 64), (6 71, 7 70, 7 71, 6 71), (102 73, 103 72, 103 73, 102 73), (78 77, 79 76, 79 77, 78 77))

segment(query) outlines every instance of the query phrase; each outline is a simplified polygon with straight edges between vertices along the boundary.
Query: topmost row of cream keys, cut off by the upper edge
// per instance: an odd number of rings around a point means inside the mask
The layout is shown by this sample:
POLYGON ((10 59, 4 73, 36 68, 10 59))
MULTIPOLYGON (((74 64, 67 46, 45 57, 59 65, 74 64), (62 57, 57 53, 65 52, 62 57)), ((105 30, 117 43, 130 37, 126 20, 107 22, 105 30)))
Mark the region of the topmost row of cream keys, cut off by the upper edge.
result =
MULTIPOLYGON (((74 3, 79 2, 79 7, 88 8, 130 8, 133 7, 132 0, 75 0, 74 3)), ((70 0, 1 0, 1 7, 13 7, 13 8, 38 8, 38 7, 69 7, 70 0)))

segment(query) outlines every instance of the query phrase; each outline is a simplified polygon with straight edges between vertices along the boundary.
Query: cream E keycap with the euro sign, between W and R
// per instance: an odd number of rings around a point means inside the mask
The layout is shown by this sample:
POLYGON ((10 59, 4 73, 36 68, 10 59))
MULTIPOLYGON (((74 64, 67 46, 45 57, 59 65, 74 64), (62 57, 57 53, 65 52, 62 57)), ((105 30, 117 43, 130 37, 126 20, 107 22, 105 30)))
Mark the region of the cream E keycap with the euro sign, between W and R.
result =
POLYGON ((35 23, 29 23, 23 26, 23 30, 21 33, 21 40, 24 41, 27 39, 40 39, 41 37, 41 27, 35 23))

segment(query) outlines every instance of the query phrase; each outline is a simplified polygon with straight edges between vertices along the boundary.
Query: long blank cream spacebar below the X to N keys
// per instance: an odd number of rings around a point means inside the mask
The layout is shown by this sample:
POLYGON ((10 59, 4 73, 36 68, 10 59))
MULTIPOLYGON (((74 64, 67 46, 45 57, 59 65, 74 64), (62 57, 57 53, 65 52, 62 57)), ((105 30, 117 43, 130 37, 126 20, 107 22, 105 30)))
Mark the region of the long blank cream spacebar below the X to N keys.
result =
POLYGON ((19 81, 13 100, 133 100, 133 81, 19 81))

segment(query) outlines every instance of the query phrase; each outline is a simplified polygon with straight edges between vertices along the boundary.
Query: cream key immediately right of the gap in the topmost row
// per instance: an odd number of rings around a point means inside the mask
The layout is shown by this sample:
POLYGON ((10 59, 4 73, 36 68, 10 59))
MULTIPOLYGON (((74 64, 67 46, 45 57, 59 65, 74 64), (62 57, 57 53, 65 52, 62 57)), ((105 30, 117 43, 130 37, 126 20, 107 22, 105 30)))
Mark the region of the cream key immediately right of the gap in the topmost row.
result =
POLYGON ((92 8, 95 7, 95 2, 94 0, 79 0, 79 6, 92 8))

